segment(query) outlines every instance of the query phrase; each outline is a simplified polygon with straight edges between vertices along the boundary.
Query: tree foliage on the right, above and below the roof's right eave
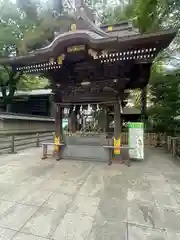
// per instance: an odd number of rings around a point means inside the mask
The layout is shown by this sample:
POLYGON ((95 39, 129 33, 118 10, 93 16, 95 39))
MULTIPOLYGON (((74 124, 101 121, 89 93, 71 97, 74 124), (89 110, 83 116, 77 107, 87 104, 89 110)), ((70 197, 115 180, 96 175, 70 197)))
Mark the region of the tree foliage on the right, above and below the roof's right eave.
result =
MULTIPOLYGON (((140 33, 153 32, 163 28, 179 28, 179 0, 129 0, 116 8, 109 8, 104 14, 105 23, 117 23, 132 19, 140 33)), ((180 57, 179 34, 173 43, 161 52, 152 64, 148 97, 149 120, 157 131, 173 132, 180 115, 180 57)), ((134 105, 138 106, 140 93, 131 94, 134 105)))

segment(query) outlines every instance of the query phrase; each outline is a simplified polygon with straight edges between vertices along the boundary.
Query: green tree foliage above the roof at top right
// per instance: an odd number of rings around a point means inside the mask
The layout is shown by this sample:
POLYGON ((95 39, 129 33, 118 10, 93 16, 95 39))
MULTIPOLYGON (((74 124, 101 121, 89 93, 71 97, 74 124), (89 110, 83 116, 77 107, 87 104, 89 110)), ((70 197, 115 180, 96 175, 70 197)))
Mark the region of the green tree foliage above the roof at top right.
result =
POLYGON ((145 33, 167 26, 179 26, 179 13, 179 0, 128 0, 106 8, 102 21, 112 24, 132 19, 134 26, 145 33))

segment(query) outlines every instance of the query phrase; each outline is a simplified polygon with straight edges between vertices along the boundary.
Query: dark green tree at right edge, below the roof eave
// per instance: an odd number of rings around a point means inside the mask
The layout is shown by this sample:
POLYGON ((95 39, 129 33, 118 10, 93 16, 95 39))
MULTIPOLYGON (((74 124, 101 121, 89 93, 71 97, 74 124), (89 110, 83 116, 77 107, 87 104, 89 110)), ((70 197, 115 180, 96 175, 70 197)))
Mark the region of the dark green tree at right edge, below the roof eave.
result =
POLYGON ((152 106, 149 119, 157 131, 174 134, 180 115, 180 64, 174 56, 158 58, 152 65, 150 91, 152 106))

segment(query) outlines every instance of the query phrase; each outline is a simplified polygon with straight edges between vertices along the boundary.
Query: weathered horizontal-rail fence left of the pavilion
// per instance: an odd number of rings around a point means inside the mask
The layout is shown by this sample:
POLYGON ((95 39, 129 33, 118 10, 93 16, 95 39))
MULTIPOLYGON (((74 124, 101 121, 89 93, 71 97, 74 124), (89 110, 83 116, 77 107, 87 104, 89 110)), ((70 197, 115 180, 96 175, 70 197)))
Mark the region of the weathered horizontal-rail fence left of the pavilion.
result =
POLYGON ((0 133, 0 154, 15 153, 30 147, 40 147, 42 142, 53 141, 53 131, 0 133))

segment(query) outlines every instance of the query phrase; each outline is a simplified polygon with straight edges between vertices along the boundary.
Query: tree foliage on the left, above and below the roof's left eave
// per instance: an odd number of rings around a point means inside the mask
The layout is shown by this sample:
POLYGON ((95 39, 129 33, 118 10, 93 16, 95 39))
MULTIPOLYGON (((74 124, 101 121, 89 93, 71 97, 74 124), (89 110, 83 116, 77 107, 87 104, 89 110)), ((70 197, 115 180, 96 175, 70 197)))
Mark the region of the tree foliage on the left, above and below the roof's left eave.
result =
MULTIPOLYGON (((42 5, 39 0, 0 1, 0 57, 27 54, 53 40, 55 31, 60 31, 70 19, 61 16, 62 1, 50 2, 42 5)), ((5 104, 12 102, 17 89, 42 88, 45 85, 46 81, 44 84, 42 79, 1 66, 0 91, 5 104)))

